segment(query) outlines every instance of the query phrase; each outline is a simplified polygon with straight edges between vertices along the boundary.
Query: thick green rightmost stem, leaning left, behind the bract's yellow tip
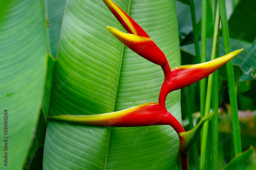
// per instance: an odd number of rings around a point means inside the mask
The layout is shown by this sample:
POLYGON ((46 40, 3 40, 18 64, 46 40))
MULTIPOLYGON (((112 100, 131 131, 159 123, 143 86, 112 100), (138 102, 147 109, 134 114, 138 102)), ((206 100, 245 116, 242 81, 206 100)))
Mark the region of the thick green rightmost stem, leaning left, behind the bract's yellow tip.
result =
MULTIPOLYGON (((220 18, 222 25, 222 35, 225 53, 228 54, 230 49, 230 41, 229 41, 229 31, 228 31, 228 20, 226 13, 226 5, 225 0, 219 0, 220 5, 220 18)), ((233 64, 230 60, 227 64, 227 73, 228 73, 228 89, 229 89, 229 100, 230 100, 230 108, 231 108, 231 119, 232 119, 232 130, 233 130, 233 138, 234 138, 234 152, 235 155, 242 152, 241 146, 241 136, 240 136, 240 128, 239 128, 239 120, 238 120, 238 109, 237 109, 237 94, 236 94, 236 85, 234 80, 234 70, 233 64)))

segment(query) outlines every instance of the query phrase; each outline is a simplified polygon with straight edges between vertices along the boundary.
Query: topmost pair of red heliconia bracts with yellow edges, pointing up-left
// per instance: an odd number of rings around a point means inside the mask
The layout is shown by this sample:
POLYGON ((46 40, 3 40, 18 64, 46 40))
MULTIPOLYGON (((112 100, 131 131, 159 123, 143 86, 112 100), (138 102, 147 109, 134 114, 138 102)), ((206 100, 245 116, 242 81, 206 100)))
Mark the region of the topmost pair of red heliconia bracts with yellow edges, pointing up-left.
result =
POLYGON ((140 27, 140 25, 138 25, 120 7, 118 7, 111 0, 103 1, 128 33, 121 32, 110 26, 106 27, 106 29, 135 53, 161 66, 165 76, 167 77, 170 73, 170 66, 161 49, 157 47, 153 40, 140 27))

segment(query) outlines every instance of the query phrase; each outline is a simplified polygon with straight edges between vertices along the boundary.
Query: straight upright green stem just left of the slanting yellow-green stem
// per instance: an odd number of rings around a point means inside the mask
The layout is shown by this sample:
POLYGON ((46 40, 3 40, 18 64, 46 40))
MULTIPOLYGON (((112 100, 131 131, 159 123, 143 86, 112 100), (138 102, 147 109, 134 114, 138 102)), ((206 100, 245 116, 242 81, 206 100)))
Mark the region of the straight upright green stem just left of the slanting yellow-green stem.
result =
MULTIPOLYGON (((201 30, 201 63, 206 62, 206 4, 207 0, 202 0, 202 27, 201 30)), ((206 79, 200 80, 200 117, 205 115, 205 94, 206 94, 206 79)), ((201 143, 202 143, 202 130, 201 130, 201 143)))

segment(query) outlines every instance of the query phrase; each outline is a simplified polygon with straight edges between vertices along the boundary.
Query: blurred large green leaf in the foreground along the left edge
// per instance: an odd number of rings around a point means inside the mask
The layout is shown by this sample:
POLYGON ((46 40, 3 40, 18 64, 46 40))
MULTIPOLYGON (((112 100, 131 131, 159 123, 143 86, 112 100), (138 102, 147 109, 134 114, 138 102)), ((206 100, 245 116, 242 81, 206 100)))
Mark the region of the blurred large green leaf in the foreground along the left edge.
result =
MULTIPOLYGON (((8 169, 23 169, 35 134, 44 88, 46 21, 42 1, 12 3, 0 22, 2 123, 4 110, 8 112, 8 132, 4 135, 2 131, 0 154, 3 158, 7 152, 8 169), (9 137, 6 151, 3 136, 9 137)), ((2 159, 0 169, 5 168, 2 159)))

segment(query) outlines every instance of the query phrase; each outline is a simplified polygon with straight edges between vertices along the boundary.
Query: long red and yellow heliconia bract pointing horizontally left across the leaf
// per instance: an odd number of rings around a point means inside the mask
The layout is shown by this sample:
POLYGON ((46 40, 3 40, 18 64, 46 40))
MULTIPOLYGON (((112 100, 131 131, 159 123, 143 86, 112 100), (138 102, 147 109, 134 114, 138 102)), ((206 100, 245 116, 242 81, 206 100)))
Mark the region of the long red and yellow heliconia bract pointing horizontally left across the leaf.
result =
POLYGON ((110 127, 170 125, 177 133, 185 132, 179 121, 156 102, 140 104, 112 113, 95 115, 58 115, 49 116, 48 118, 62 121, 68 120, 79 124, 110 127))

